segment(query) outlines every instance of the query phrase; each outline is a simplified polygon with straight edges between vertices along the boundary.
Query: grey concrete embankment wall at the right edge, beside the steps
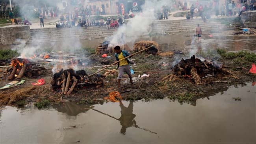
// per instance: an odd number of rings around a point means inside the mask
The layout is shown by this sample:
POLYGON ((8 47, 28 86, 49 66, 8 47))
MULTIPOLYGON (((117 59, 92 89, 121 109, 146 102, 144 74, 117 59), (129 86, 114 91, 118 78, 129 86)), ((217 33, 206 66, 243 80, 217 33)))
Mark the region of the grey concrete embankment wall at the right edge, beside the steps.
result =
POLYGON ((256 28, 256 11, 243 12, 241 20, 245 28, 256 28))

